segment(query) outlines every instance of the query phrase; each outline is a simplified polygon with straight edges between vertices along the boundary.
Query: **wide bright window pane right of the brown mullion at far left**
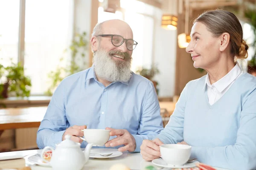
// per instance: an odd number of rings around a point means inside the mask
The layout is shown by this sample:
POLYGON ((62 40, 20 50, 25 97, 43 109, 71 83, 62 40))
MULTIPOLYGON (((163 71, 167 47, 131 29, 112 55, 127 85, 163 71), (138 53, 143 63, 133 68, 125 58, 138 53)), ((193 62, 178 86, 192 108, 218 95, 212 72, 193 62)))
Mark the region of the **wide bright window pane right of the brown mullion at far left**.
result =
POLYGON ((31 94, 42 94, 72 38, 69 0, 26 0, 25 74, 32 80, 31 94))

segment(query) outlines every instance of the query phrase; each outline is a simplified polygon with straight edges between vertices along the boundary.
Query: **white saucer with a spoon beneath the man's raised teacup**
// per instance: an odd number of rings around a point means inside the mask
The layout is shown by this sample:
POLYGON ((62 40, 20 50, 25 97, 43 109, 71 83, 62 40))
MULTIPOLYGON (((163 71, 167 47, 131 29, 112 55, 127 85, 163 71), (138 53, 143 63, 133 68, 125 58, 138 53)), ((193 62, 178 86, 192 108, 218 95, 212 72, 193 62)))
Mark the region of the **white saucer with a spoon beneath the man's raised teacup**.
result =
POLYGON ((121 156, 122 152, 118 151, 117 149, 91 149, 90 150, 90 158, 97 158, 97 159, 107 159, 107 158, 114 158, 117 156, 121 156), (111 156, 100 156, 99 154, 109 154, 109 153, 113 153, 111 156))

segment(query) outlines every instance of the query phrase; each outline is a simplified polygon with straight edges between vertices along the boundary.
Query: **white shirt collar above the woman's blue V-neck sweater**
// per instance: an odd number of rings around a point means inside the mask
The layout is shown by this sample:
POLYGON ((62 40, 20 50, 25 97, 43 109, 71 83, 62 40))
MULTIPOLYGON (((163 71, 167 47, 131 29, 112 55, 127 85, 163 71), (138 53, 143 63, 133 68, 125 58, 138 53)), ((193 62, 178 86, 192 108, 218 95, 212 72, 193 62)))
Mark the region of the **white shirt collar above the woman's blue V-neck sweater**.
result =
POLYGON ((224 91, 227 86, 229 86, 239 75, 241 74, 241 68, 238 63, 236 63, 235 67, 233 67, 230 72, 228 72, 224 77, 219 79, 217 82, 213 83, 211 85, 210 80, 209 80, 209 74, 207 73, 206 78, 205 78, 205 85, 208 85, 209 87, 214 86, 220 93, 224 91))

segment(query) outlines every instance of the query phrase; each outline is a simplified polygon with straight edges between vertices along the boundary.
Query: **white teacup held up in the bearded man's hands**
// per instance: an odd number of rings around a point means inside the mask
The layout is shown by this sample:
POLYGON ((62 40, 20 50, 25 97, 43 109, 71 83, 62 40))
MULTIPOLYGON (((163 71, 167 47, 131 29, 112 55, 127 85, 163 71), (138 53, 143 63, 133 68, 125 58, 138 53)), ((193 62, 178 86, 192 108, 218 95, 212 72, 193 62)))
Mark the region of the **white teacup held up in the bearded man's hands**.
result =
POLYGON ((92 143, 93 146, 104 146, 110 137, 109 133, 111 130, 105 129, 84 129, 84 138, 79 136, 82 140, 87 143, 92 143))

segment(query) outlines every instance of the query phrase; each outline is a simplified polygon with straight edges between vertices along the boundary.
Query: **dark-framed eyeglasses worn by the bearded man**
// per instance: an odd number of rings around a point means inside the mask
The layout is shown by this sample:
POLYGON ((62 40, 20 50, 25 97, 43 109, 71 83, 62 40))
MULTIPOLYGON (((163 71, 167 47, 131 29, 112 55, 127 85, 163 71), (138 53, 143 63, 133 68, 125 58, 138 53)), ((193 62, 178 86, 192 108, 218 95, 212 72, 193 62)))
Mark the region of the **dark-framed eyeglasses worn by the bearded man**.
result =
POLYGON ((129 51, 134 50, 134 48, 136 47, 136 45, 138 44, 138 42, 132 40, 132 39, 125 39, 120 35, 114 35, 114 34, 102 34, 102 35, 98 35, 96 37, 111 37, 111 42, 114 46, 119 47, 121 46, 124 42, 126 44, 126 48, 129 51))

